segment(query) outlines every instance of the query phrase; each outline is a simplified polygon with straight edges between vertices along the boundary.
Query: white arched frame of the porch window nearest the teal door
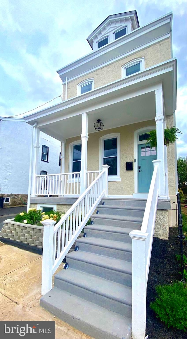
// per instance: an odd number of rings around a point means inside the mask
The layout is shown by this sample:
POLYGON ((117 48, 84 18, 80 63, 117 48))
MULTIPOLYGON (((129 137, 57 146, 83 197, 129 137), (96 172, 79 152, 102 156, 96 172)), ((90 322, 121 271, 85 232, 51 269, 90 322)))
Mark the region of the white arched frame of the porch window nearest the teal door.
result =
POLYGON ((104 140, 117 138, 117 175, 109 175, 108 181, 121 181, 120 178, 120 133, 106 134, 99 139, 99 169, 102 170, 104 158, 104 140))

